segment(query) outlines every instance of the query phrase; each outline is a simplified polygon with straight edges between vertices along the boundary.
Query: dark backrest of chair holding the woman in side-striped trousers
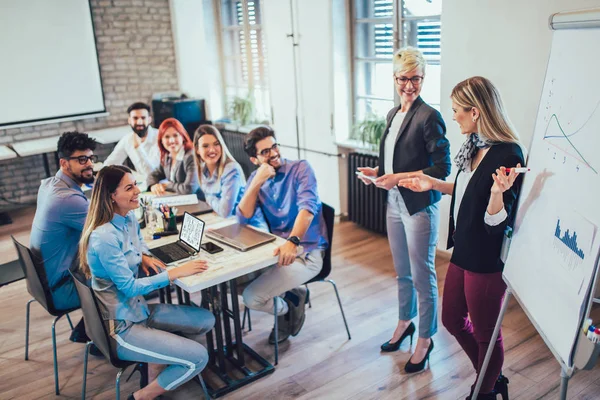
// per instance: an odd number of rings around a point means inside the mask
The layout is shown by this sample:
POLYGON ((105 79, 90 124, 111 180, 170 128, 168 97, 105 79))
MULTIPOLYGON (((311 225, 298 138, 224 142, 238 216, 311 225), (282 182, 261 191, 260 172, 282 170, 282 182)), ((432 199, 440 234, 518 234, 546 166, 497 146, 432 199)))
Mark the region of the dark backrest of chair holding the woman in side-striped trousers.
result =
POLYGON ((73 276, 75 288, 81 301, 81 311, 83 313, 83 320, 85 321, 85 333, 92 339, 102 354, 104 354, 104 357, 110 360, 112 365, 121 368, 124 364, 130 364, 119 360, 116 355, 116 349, 111 346, 110 336, 102 320, 102 313, 98 307, 98 299, 94 294, 94 290, 88 286, 85 277, 80 272, 71 272, 71 276, 73 276))

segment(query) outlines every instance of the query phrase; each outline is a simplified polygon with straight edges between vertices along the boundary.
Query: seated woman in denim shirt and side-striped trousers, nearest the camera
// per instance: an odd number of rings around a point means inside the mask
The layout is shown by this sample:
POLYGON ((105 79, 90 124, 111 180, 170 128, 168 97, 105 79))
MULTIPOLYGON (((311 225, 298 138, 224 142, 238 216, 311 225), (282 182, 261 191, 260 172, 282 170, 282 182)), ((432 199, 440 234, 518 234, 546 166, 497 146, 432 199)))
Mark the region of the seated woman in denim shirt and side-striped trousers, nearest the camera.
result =
POLYGON ((146 303, 145 294, 208 266, 196 260, 167 271, 152 258, 133 212, 139 207, 139 194, 129 168, 112 165, 98 173, 79 257, 117 355, 148 363, 150 383, 129 399, 154 399, 194 378, 206 366, 208 353, 198 339, 213 328, 215 319, 198 307, 146 303), (140 266, 156 275, 138 278, 140 266))

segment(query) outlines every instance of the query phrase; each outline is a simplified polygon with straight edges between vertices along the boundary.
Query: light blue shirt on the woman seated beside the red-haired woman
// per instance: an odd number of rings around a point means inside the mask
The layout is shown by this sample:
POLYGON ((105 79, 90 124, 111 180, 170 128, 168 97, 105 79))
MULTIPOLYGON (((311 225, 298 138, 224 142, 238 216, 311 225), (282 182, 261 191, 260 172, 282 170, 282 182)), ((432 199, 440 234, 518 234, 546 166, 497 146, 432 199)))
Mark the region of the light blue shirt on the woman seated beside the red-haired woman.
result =
POLYGON ((201 168, 200 189, 206 202, 220 217, 235 215, 235 208, 244 193, 245 179, 242 167, 237 162, 230 161, 225 164, 220 178, 217 178, 217 171, 210 175, 206 165, 203 164, 201 168))

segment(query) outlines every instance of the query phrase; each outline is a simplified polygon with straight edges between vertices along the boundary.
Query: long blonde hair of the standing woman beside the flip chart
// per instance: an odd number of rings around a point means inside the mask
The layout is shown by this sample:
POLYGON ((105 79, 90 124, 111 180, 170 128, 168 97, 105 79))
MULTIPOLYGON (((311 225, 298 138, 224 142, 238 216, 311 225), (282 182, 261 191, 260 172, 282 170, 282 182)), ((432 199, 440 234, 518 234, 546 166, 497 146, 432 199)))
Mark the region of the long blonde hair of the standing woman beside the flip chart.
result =
POLYGON ((465 79, 454 86, 450 98, 465 111, 479 110, 477 133, 483 139, 521 145, 519 134, 504 110, 500 92, 489 79, 482 76, 465 79))

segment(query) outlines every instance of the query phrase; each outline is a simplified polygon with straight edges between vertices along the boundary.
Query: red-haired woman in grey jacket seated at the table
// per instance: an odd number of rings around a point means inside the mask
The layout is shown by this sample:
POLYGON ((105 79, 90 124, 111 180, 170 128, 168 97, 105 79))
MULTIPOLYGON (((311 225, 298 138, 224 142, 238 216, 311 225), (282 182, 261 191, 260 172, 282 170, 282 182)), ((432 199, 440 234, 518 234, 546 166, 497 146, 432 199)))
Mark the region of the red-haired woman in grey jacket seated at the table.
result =
POLYGON ((198 172, 194 164, 194 143, 181 122, 167 118, 158 128, 160 166, 148 177, 148 187, 155 195, 167 192, 196 193, 198 172))

